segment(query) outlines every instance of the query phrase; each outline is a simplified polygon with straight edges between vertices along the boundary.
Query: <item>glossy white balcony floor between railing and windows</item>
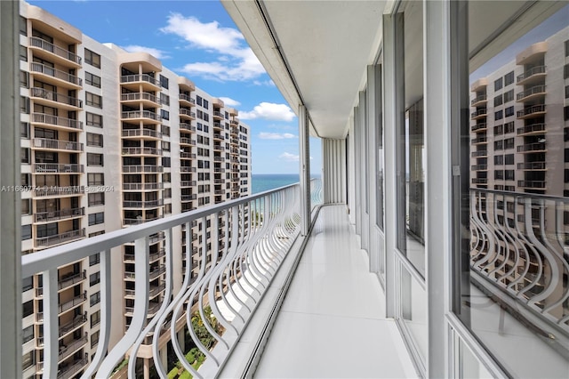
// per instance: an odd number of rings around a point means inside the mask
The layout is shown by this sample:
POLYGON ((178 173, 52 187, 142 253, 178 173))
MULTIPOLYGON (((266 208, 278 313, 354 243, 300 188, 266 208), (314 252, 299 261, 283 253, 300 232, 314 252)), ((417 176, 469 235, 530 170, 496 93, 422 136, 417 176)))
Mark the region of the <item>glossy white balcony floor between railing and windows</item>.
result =
POLYGON ((345 206, 323 207, 255 377, 417 377, 384 304, 345 206))

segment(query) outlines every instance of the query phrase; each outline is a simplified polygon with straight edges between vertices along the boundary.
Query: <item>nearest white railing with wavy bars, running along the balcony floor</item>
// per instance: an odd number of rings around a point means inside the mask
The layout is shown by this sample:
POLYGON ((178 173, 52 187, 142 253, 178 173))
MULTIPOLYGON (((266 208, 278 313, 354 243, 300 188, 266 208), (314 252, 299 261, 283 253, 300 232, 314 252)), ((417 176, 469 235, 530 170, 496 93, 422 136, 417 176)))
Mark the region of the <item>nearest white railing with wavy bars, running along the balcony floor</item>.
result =
MULTIPOLYGON (((313 184, 313 190, 318 191, 319 188, 313 184)), ((172 367, 164 367, 157 353, 159 337, 164 334, 153 333, 162 332, 164 328, 171 335, 173 351, 189 374, 194 377, 209 377, 219 373, 280 263, 299 235, 300 198, 299 186, 291 185, 23 255, 22 277, 28 278, 36 274, 42 274, 44 277, 44 376, 70 377, 86 365, 86 360, 79 359, 73 366, 66 368, 65 373, 58 373, 58 313, 62 306, 70 309, 77 302, 84 302, 86 295, 82 294, 73 299, 71 305, 66 302, 58 306, 58 286, 53 283, 57 283, 58 267, 93 254, 100 254, 100 339, 91 364, 85 367, 84 377, 109 377, 127 352, 131 357, 137 355, 141 344, 150 334, 156 371, 158 375, 166 377, 172 367), (252 214, 255 214, 255 217, 252 217, 252 214), (172 236, 180 235, 182 226, 185 230, 190 230, 196 222, 205 223, 207 220, 212 222, 212 235, 209 239, 211 248, 207 247, 208 238, 204 228, 200 231, 203 238, 199 248, 187 249, 184 256, 186 262, 191 262, 192 252, 200 254, 196 277, 192 278, 192 265, 188 264, 185 275, 180 279, 182 282, 174 283, 174 280, 179 278, 179 267, 172 264, 173 246, 179 246, 180 241, 173 240, 172 236), (174 230, 178 231, 173 233, 174 230), (232 236, 231 239, 228 236, 232 236), (165 264, 157 266, 151 273, 149 246, 153 238, 158 237, 165 238, 165 264), (124 337, 115 345, 109 345, 112 311, 111 249, 124 244, 130 245, 132 241, 135 270, 134 292, 131 293, 134 295, 134 305, 132 310, 129 310, 132 311, 132 321, 124 337), (210 262, 206 265, 208 261, 210 262), (152 276, 156 275, 164 275, 164 302, 148 304, 148 283, 152 276), (181 289, 174 292, 173 288, 181 289), (206 348, 197 338, 193 323, 190 322, 191 318, 188 317, 183 325, 183 330, 188 332, 197 349, 206 357, 198 373, 184 358, 186 351, 182 350, 176 338, 180 330, 168 328, 171 325, 170 319, 180 319, 186 309, 196 310, 196 314, 204 318, 206 304, 221 326, 220 329, 214 330, 209 322, 204 322, 215 341, 212 348, 206 348), (148 319, 149 311, 156 312, 156 316, 148 319)), ((162 290, 160 288, 160 291, 162 290)), ((136 365, 137 359, 129 360, 129 377, 136 377, 136 365)))

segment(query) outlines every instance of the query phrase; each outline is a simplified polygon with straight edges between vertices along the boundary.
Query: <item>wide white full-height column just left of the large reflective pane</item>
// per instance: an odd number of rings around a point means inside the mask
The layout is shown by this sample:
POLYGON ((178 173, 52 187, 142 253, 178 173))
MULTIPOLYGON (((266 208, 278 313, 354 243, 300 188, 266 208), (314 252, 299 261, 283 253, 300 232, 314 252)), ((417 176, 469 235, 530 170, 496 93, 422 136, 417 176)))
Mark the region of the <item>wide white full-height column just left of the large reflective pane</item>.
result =
POLYGON ((448 276, 451 270, 451 145, 450 145, 450 18, 447 2, 424 4, 424 122, 427 150, 425 186, 427 250, 427 318, 429 355, 427 377, 446 377, 448 329, 445 313, 449 309, 448 276), (441 275, 445 273, 445 275, 441 275))

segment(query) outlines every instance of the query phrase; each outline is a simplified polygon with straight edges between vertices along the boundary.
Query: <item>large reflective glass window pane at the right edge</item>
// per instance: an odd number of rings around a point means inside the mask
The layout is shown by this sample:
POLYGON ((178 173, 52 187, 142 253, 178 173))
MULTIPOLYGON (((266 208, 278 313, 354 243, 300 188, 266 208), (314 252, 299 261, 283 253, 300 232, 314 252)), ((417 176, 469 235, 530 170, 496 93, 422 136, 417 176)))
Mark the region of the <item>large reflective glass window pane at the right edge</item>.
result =
POLYGON ((569 373, 562 5, 469 2, 469 220, 457 226, 469 243, 454 311, 513 377, 569 373))

